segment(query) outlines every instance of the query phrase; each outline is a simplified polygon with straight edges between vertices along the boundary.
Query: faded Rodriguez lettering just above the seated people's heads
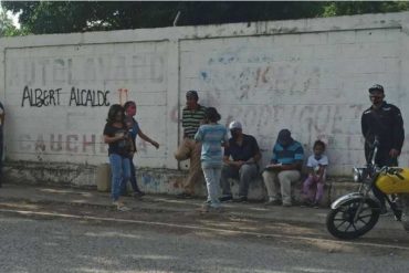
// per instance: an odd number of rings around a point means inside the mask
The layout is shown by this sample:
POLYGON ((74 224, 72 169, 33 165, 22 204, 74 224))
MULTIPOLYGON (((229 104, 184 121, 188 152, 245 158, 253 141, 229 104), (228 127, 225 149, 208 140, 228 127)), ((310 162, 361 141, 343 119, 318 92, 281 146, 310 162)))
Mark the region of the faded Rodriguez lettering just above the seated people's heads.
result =
POLYGON ((365 107, 361 104, 233 105, 229 108, 227 123, 241 120, 247 130, 263 138, 274 138, 272 133, 286 127, 296 133, 303 143, 311 144, 318 136, 331 143, 335 135, 360 134, 360 115, 365 107))

